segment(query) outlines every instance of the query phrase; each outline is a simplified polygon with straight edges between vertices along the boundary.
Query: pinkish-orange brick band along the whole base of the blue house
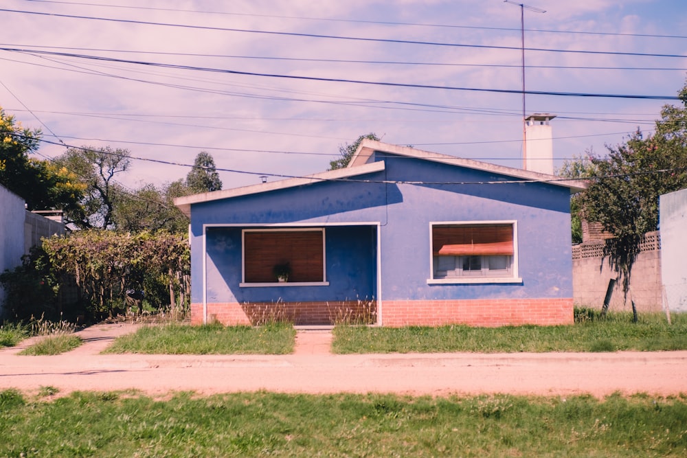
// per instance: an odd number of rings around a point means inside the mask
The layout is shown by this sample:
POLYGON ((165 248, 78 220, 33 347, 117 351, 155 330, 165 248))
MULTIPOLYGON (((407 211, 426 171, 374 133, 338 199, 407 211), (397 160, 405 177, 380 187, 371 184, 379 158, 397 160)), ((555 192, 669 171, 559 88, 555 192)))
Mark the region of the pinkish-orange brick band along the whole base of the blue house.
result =
MULTIPOLYGON (((297 325, 329 325, 340 322, 375 323, 375 304, 348 302, 207 304, 207 321, 224 325, 251 325, 273 318, 297 325)), ((441 301, 384 301, 382 324, 466 324, 480 327, 505 325, 572 325, 573 299, 470 299, 441 301)), ((203 304, 191 304, 191 323, 203 323, 203 304)))

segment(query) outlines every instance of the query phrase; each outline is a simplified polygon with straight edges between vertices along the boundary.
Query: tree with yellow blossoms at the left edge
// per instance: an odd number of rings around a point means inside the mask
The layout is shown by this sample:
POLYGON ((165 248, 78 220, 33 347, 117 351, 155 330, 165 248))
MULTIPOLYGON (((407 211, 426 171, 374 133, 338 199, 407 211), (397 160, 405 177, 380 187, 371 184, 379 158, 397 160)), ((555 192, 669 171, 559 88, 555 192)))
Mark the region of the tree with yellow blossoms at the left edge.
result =
POLYGON ((0 184, 23 198, 30 210, 76 211, 85 187, 67 168, 28 156, 40 140, 40 130, 23 128, 0 108, 0 184))

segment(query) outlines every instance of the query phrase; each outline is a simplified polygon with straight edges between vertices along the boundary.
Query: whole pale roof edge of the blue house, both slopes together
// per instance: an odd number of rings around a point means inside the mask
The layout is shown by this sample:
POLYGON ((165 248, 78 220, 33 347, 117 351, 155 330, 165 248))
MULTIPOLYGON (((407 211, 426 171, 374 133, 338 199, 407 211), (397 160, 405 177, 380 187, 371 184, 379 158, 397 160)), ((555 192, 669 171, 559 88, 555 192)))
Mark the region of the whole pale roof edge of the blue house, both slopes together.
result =
POLYGON ((396 154, 405 157, 414 157, 416 159, 424 159, 426 161, 440 162, 449 165, 457 165, 459 167, 471 168, 474 170, 482 170, 484 172, 511 176, 514 179, 519 180, 541 181, 551 185, 570 188, 570 192, 580 192, 587 189, 587 183, 584 181, 561 179, 560 176, 504 167, 502 165, 475 161, 473 159, 461 159, 459 157, 440 154, 438 152, 418 150, 409 146, 398 146, 382 143, 381 141, 364 139, 361 141, 360 146, 353 154, 353 157, 346 168, 329 170, 327 172, 320 172, 298 178, 271 181, 269 183, 260 183, 258 185, 236 187, 229 190, 204 192, 202 194, 194 194, 192 196, 178 197, 174 199, 174 205, 177 205, 183 214, 190 218, 191 205, 195 203, 218 201, 225 198, 248 196, 250 194, 260 194, 262 192, 283 190, 289 187, 310 185, 320 181, 346 179, 350 176, 381 172, 385 168, 384 161, 368 162, 372 156, 372 153, 375 151, 387 152, 389 154, 396 154))

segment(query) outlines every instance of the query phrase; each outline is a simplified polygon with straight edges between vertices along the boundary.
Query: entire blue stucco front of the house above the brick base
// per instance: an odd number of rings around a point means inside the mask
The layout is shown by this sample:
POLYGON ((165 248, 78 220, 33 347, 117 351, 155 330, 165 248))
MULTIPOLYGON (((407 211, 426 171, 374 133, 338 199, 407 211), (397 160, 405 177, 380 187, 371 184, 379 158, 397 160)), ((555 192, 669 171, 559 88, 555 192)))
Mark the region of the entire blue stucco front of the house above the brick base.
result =
MULTIPOLYGON (((374 183, 323 182, 192 205, 192 300, 202 301, 204 224, 345 222, 379 223, 382 299, 572 297, 567 188, 545 183, 478 184, 511 179, 408 157, 378 155, 374 159, 386 163, 383 172, 364 177, 374 183), (431 270, 429 223, 477 220, 517 220, 519 276, 523 282, 427 284, 431 270)), ((240 230, 210 229, 207 301, 346 300, 363 298, 363 293, 379 297, 374 280, 376 253, 362 244, 350 249, 357 240, 376 243, 376 232, 369 233, 371 227, 358 228, 363 232, 354 232, 354 227, 325 227, 330 286, 265 288, 238 288, 240 230), (355 273, 355 268, 360 272, 355 273)))

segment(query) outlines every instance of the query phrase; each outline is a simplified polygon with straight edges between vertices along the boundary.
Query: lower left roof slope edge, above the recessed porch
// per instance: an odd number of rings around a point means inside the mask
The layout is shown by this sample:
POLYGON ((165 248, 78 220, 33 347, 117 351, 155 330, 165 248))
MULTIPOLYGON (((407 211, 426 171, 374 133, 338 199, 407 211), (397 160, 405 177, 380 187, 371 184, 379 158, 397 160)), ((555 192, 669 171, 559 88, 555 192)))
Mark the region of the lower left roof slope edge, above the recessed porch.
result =
POLYGON ((203 192, 202 194, 193 194, 191 196, 177 197, 174 199, 174 205, 177 205, 177 207, 181 209, 183 214, 190 218, 191 205, 194 203, 218 201, 220 199, 225 198, 248 196, 250 194, 260 194, 262 192, 284 190, 289 187, 311 185, 313 183, 319 183, 322 181, 346 179, 350 176, 358 176, 368 173, 381 172, 382 170, 384 170, 383 161, 372 162, 356 168, 328 170, 327 172, 319 172, 313 175, 289 178, 280 181, 270 181, 268 183, 260 183, 258 185, 235 187, 230 190, 203 192))

